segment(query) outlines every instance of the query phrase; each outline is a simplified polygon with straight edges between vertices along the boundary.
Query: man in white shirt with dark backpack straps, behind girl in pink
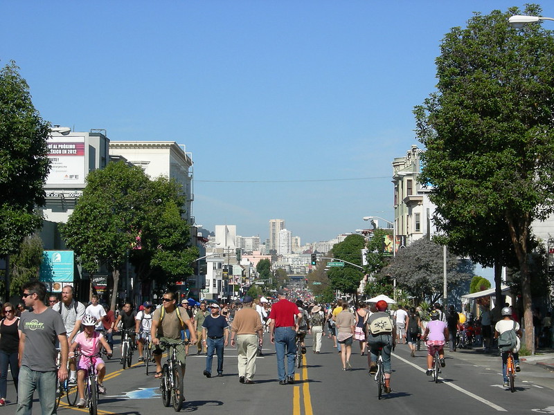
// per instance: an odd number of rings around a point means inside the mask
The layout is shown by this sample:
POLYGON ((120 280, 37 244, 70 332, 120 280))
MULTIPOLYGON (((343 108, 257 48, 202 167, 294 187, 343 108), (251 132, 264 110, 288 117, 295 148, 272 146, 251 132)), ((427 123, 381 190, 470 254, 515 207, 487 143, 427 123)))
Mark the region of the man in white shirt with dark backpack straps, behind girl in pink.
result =
MULTIPOLYGON (((54 304, 53 311, 62 316, 67 335, 67 349, 73 343, 75 335, 81 331, 81 320, 84 317, 84 304, 73 298, 73 286, 66 285, 62 288, 62 301, 54 304)), ((77 367, 75 359, 69 359, 69 381, 70 386, 77 385, 77 367)))

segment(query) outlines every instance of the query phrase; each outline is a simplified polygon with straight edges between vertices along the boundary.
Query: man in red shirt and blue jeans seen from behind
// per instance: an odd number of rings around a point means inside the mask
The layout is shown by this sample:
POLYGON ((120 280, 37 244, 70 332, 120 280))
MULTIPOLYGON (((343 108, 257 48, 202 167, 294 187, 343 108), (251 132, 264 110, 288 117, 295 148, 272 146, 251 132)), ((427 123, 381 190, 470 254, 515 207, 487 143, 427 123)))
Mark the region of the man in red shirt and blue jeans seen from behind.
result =
POLYGON ((279 301, 271 306, 269 332, 271 343, 275 344, 279 385, 294 383, 294 357, 296 356, 296 331, 302 313, 293 302, 287 299, 287 291, 278 291, 279 301), (287 355, 287 374, 285 377, 285 354, 287 355))

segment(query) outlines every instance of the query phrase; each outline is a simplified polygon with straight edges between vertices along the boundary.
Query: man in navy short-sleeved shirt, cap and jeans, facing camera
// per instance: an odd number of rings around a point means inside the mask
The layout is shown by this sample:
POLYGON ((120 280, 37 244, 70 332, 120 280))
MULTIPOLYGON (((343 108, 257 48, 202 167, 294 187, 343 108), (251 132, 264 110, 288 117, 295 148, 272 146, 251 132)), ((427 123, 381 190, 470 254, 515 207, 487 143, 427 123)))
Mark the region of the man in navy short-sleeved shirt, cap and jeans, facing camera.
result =
POLYGON ((217 376, 223 376, 223 351, 229 341, 229 323, 220 314, 220 304, 210 305, 211 314, 202 323, 202 341, 208 347, 204 376, 212 376, 213 353, 217 353, 217 376))

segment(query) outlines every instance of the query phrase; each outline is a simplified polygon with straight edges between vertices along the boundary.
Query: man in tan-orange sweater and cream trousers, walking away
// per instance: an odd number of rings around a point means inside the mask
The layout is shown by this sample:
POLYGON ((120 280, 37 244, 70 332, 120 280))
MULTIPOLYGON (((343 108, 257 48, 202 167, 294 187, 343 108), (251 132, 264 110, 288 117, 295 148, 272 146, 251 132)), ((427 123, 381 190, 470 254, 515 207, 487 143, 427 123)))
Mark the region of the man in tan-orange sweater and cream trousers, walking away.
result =
POLYGON ((238 381, 246 385, 254 383, 258 344, 263 339, 263 325, 259 313, 251 307, 253 298, 244 296, 244 307, 235 313, 231 329, 231 346, 238 349, 238 381))

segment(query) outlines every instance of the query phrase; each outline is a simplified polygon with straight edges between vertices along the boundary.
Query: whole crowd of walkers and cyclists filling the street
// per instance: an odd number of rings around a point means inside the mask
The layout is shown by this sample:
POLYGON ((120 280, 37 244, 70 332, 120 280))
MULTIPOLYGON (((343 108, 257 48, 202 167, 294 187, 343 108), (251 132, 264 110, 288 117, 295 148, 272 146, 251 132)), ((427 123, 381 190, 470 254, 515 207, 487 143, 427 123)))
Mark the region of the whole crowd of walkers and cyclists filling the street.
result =
MULTIPOLYGON (((179 299, 176 293, 168 291, 157 306, 146 301, 135 311, 132 302, 125 302, 114 313, 107 304, 100 304, 97 295, 92 295, 89 304, 84 304, 73 297, 72 286, 64 286, 58 297, 47 296, 44 283, 28 282, 24 285, 21 304, 15 307, 6 302, 1 309, 0 406, 7 402, 9 367, 17 393, 17 414, 31 413, 35 390, 43 413, 54 414, 56 377, 68 379, 70 386, 78 387, 78 406, 84 407, 87 371, 94 365, 99 391, 105 394, 102 382, 105 363, 98 353, 100 347, 104 347, 111 356, 114 333, 123 330, 131 331, 132 344, 139 349, 139 362, 143 360, 145 341, 152 342, 156 364, 154 378, 162 376, 161 342, 176 343, 183 376, 186 356, 204 354, 206 378, 223 376, 224 349, 230 342, 231 347, 238 350, 238 380, 246 385, 255 383, 256 358, 262 356, 264 333, 269 333, 269 340, 275 347, 280 385, 294 384, 297 344, 301 353, 307 353, 305 336, 311 334, 312 352, 319 354, 323 338, 328 336, 339 353, 343 371, 352 369, 352 353, 361 356, 367 353, 368 373, 373 376, 380 354, 385 393, 391 392, 391 353, 396 344, 408 344, 414 357, 423 343, 427 351, 426 373, 431 375, 436 350, 440 366, 445 367, 446 345, 452 352, 461 345, 472 347, 476 344, 489 351, 495 339, 501 338, 506 331, 513 330, 521 336, 517 316, 508 304, 493 310, 485 307, 476 320, 471 315, 459 313, 454 306, 445 311, 440 304, 425 311, 403 306, 391 310, 383 300, 371 304, 359 302, 356 306, 342 300, 335 304, 316 304, 310 297, 298 298, 298 293, 288 289, 281 289, 277 294, 274 302, 246 295, 237 302, 219 304, 213 300, 179 299), (358 346, 352 351, 355 343, 358 346), (80 360, 75 358, 78 355, 80 360), (214 356, 217 363, 213 374, 214 356)), ((538 346, 542 338, 551 336, 551 313, 542 317, 535 310, 533 317, 536 319, 535 333, 539 333, 538 346)), ((519 371, 519 342, 517 347, 508 349, 515 352, 516 370, 519 371)), ((508 349, 502 349, 501 353, 504 366, 508 349)), ((505 373, 503 381, 506 385, 505 373)))

